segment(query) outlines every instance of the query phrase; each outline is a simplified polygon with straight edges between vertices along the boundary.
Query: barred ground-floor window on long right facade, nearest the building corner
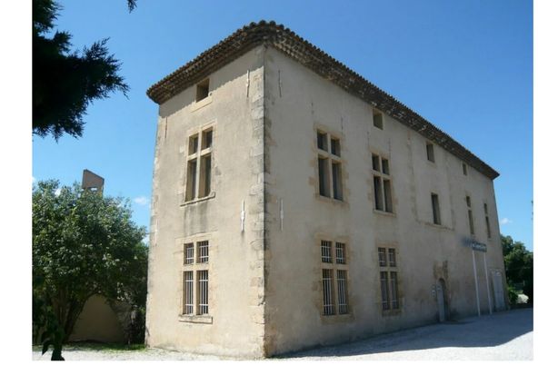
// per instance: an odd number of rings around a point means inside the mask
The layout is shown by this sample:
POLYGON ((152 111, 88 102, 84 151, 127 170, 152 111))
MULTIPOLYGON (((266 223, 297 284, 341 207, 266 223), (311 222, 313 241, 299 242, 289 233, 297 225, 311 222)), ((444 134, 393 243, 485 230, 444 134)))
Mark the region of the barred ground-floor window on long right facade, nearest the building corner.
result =
POLYGON ((323 314, 347 314, 347 260, 344 242, 321 241, 323 314), (334 247, 334 249, 333 249, 334 247), (332 256, 335 255, 333 260, 332 256), (335 279, 335 280, 334 280, 335 279), (337 302, 334 303, 334 300, 337 302))

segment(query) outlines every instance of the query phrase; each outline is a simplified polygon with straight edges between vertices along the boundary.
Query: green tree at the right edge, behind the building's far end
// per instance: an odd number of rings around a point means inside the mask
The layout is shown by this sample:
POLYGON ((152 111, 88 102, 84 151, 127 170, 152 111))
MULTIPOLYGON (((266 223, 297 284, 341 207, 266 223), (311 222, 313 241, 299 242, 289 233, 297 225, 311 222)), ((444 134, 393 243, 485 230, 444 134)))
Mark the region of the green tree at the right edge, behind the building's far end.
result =
POLYGON ((529 302, 533 302, 533 252, 523 242, 514 242, 511 236, 501 235, 501 241, 508 286, 522 288, 529 302))

